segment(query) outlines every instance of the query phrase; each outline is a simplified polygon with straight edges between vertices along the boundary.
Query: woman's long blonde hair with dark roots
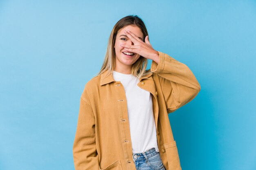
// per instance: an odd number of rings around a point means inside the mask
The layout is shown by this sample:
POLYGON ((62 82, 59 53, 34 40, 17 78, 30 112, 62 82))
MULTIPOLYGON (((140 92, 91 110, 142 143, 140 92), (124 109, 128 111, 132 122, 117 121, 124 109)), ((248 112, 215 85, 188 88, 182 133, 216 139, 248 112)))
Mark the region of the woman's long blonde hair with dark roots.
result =
MULTIPOLYGON (((128 25, 138 26, 141 29, 141 32, 143 33, 144 39, 148 35, 148 31, 146 29, 144 22, 137 15, 128 15, 126 17, 121 18, 121 20, 119 20, 115 24, 114 28, 110 33, 110 36, 108 39, 107 51, 105 54, 105 59, 103 61, 101 70, 97 75, 100 75, 105 71, 108 71, 108 75, 109 75, 114 70, 115 57, 116 57, 114 45, 115 45, 117 33, 121 28, 124 28, 125 26, 128 26, 128 25)), ((144 39, 143 41, 145 42, 144 39)), ((150 69, 146 70, 147 63, 148 63, 147 59, 143 56, 140 56, 139 59, 137 59, 137 61, 132 64, 131 74, 138 78, 141 78, 151 73, 150 69)))

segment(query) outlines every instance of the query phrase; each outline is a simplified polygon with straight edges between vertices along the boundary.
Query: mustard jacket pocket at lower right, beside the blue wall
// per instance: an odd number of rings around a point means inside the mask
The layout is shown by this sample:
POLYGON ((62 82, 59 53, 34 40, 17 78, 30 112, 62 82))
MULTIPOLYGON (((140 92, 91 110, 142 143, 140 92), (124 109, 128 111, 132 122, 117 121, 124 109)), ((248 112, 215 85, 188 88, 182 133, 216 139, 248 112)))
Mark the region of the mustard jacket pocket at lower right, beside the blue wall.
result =
POLYGON ((167 161, 168 161, 168 169, 169 170, 181 170, 180 166, 180 158, 176 146, 176 142, 172 141, 164 144, 167 161))

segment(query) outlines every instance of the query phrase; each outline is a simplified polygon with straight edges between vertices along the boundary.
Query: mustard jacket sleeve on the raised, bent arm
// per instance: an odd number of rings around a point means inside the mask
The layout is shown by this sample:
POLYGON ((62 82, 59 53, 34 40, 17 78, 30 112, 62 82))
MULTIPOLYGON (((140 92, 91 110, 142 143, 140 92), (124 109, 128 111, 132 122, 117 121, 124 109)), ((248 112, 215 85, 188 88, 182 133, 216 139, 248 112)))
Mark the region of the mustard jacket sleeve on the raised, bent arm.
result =
POLYGON ((157 73, 168 113, 190 102, 200 92, 200 84, 191 70, 168 54, 158 51, 159 63, 152 61, 150 71, 157 73))

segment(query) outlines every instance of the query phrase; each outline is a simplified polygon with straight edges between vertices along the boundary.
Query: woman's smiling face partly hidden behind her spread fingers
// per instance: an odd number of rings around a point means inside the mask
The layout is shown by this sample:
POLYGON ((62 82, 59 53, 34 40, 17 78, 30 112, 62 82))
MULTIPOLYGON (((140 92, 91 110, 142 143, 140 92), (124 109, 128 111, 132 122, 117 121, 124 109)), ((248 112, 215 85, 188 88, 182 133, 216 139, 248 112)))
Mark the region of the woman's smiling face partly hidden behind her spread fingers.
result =
POLYGON ((134 45, 134 43, 126 37, 126 33, 124 32, 125 30, 129 30, 132 33, 134 33, 137 37, 141 37, 142 41, 144 39, 143 33, 141 32, 140 28, 138 26, 125 26, 124 28, 121 28, 119 32, 117 33, 117 38, 115 41, 115 54, 116 54, 116 65, 119 66, 127 66, 127 65, 132 65, 139 59, 140 55, 134 53, 132 56, 127 56, 123 52, 129 52, 129 50, 125 50, 124 47, 120 46, 120 44, 125 44, 125 45, 134 45))

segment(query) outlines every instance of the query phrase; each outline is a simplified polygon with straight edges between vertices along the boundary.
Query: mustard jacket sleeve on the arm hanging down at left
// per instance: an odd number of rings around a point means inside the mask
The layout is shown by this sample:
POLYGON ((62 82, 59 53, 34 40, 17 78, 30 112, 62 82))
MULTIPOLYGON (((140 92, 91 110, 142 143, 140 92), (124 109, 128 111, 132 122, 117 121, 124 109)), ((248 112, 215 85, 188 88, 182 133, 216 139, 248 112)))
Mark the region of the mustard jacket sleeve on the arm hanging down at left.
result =
POLYGON ((99 170, 95 142, 95 118, 90 102, 81 96, 76 134, 73 144, 75 170, 99 170))

